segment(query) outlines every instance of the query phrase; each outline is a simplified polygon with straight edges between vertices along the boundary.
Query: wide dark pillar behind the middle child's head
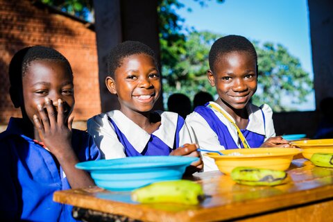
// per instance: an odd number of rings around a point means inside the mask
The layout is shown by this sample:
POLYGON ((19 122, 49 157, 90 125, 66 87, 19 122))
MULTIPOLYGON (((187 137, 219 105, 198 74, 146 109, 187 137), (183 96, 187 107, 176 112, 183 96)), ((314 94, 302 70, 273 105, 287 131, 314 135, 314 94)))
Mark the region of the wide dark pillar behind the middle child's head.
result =
MULTIPOLYGON (((153 49, 160 64, 160 40, 155 0, 94 0, 97 51, 99 54, 99 83, 102 112, 119 108, 117 96, 105 87, 106 56, 119 42, 143 42, 153 49)), ((160 69, 161 70, 161 69, 160 69)), ((155 104, 163 109, 162 94, 155 104)))

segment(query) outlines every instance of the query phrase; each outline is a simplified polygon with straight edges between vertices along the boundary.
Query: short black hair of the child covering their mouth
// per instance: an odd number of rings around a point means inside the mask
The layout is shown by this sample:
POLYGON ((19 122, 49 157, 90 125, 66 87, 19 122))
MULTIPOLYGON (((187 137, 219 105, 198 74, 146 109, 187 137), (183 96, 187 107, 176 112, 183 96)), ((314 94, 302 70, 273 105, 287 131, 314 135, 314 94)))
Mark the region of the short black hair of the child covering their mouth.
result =
POLYGON ((56 49, 46 46, 29 46, 17 51, 10 60, 8 74, 11 87, 22 89, 22 77, 26 74, 31 62, 35 60, 59 60, 65 63, 69 74, 73 75, 69 61, 56 49))

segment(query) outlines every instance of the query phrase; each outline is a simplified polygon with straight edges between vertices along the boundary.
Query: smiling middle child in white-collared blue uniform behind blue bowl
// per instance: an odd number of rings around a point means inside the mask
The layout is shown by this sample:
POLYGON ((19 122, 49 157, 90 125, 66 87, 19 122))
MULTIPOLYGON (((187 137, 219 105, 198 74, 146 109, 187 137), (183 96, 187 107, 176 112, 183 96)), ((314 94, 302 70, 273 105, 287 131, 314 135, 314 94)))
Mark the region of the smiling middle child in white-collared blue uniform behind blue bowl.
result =
MULTIPOLYGON (((116 94, 120 110, 87 121, 88 133, 106 159, 138 155, 199 156, 185 120, 174 112, 153 112, 161 93, 160 72, 153 51, 127 41, 112 49, 105 83, 116 94), (180 147, 182 146, 182 147, 180 147)), ((201 160, 192 164, 202 168, 201 160)))

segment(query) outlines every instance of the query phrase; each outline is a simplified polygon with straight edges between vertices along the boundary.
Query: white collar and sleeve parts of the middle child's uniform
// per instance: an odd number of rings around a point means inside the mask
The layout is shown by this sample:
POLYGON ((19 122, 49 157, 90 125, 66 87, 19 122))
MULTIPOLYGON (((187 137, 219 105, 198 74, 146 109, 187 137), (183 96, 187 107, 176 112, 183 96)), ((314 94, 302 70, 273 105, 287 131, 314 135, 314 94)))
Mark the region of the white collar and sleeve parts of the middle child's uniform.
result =
MULTIPOLYGON (((161 116, 161 125, 152 134, 162 140, 169 147, 173 147, 176 128, 178 122, 178 114, 175 112, 157 112, 161 116)), ((105 159, 116 159, 126 157, 125 147, 117 137, 114 126, 108 117, 114 121, 121 133, 126 136, 128 142, 132 144, 136 151, 142 153, 151 135, 144 129, 126 117, 119 110, 98 114, 87 121, 87 130, 94 138, 94 142, 100 148, 105 159)), ((184 123, 179 133, 179 144, 191 144, 193 133, 190 132, 187 124, 184 123)))

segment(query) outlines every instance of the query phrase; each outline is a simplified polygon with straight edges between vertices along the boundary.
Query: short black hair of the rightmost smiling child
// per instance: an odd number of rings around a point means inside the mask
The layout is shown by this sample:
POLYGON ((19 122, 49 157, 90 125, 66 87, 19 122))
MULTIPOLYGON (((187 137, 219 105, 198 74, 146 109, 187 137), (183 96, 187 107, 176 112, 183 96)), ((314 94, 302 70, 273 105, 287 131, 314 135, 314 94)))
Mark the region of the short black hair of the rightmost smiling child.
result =
POLYGON ((233 51, 246 51, 255 59, 255 64, 257 65, 257 52, 255 51, 255 46, 244 36, 241 35, 227 35, 220 37, 218 40, 212 44, 210 49, 209 61, 210 69, 214 73, 214 65, 217 60, 223 54, 230 53, 233 51))

